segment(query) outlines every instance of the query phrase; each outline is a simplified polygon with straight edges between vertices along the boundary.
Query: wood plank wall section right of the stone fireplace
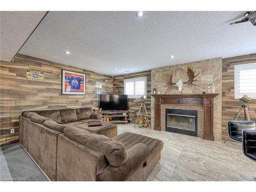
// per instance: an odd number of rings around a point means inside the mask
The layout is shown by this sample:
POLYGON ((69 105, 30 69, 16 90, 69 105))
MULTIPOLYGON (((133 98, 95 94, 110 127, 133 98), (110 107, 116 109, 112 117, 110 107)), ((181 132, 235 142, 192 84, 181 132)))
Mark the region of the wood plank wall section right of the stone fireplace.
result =
MULTIPOLYGON (((222 139, 227 137, 227 121, 236 118, 242 102, 234 99, 234 66, 256 62, 256 53, 222 60, 222 139)), ((251 120, 256 122, 256 99, 249 102, 251 120)), ((243 119, 241 113, 240 119, 243 119)))

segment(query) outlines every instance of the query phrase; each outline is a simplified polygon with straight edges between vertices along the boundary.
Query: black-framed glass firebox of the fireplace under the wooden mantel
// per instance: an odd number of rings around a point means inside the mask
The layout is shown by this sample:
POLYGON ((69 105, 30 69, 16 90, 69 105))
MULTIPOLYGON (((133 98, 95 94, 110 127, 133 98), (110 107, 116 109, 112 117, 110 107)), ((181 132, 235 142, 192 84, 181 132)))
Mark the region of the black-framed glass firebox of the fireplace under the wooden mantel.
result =
POLYGON ((198 115, 196 110, 165 110, 165 131, 197 137, 198 115))

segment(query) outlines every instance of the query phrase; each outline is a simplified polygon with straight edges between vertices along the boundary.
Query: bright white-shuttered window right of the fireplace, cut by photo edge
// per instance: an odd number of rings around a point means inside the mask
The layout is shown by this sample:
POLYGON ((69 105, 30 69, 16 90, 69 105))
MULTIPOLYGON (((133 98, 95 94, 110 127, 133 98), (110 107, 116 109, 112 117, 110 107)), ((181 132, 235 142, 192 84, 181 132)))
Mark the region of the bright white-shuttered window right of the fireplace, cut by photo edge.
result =
POLYGON ((234 66, 234 98, 256 98, 256 62, 234 66))

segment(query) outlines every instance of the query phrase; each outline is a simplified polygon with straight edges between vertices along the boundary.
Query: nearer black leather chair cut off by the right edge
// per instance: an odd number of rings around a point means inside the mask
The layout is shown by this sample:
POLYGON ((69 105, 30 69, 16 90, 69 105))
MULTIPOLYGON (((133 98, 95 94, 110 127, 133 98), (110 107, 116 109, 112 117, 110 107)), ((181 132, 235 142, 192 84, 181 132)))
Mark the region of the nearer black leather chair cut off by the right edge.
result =
MULTIPOLYGON (((256 162, 256 130, 242 132, 243 154, 256 162)), ((256 181, 256 177, 253 178, 256 181)))

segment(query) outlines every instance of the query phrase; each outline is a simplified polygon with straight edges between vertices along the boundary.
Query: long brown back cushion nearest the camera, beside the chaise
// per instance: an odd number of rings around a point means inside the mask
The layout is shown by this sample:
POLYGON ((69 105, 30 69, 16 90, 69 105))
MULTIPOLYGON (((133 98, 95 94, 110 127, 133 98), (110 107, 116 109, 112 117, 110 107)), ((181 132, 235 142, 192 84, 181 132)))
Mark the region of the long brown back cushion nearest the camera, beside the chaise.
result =
POLYGON ((65 128, 63 134, 69 139, 87 146, 94 151, 103 153, 112 166, 119 167, 128 159, 127 151, 123 143, 104 135, 88 133, 88 131, 74 126, 65 128))

